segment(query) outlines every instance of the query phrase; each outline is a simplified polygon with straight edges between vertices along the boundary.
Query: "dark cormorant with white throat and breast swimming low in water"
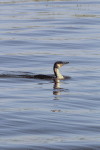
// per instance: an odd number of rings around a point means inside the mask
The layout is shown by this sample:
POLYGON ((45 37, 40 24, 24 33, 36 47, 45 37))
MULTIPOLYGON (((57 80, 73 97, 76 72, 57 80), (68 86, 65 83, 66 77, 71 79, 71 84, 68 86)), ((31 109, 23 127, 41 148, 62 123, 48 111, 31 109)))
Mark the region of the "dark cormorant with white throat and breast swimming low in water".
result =
POLYGON ((69 62, 57 61, 54 63, 54 66, 53 66, 54 76, 39 74, 39 75, 35 75, 33 78, 35 79, 67 79, 68 77, 62 76, 59 72, 59 68, 65 64, 69 64, 69 62))

